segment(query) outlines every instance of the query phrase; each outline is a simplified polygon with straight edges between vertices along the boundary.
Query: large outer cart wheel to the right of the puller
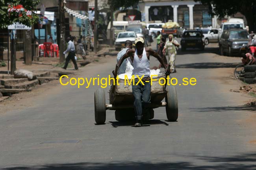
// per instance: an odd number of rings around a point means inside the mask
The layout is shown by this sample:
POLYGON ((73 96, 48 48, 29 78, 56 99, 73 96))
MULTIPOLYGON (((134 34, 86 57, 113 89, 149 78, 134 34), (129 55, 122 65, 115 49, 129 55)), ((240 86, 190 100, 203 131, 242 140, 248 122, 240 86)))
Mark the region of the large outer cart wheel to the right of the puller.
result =
POLYGON ((174 86, 167 86, 167 95, 165 97, 165 110, 168 121, 176 121, 178 119, 178 97, 174 86))

